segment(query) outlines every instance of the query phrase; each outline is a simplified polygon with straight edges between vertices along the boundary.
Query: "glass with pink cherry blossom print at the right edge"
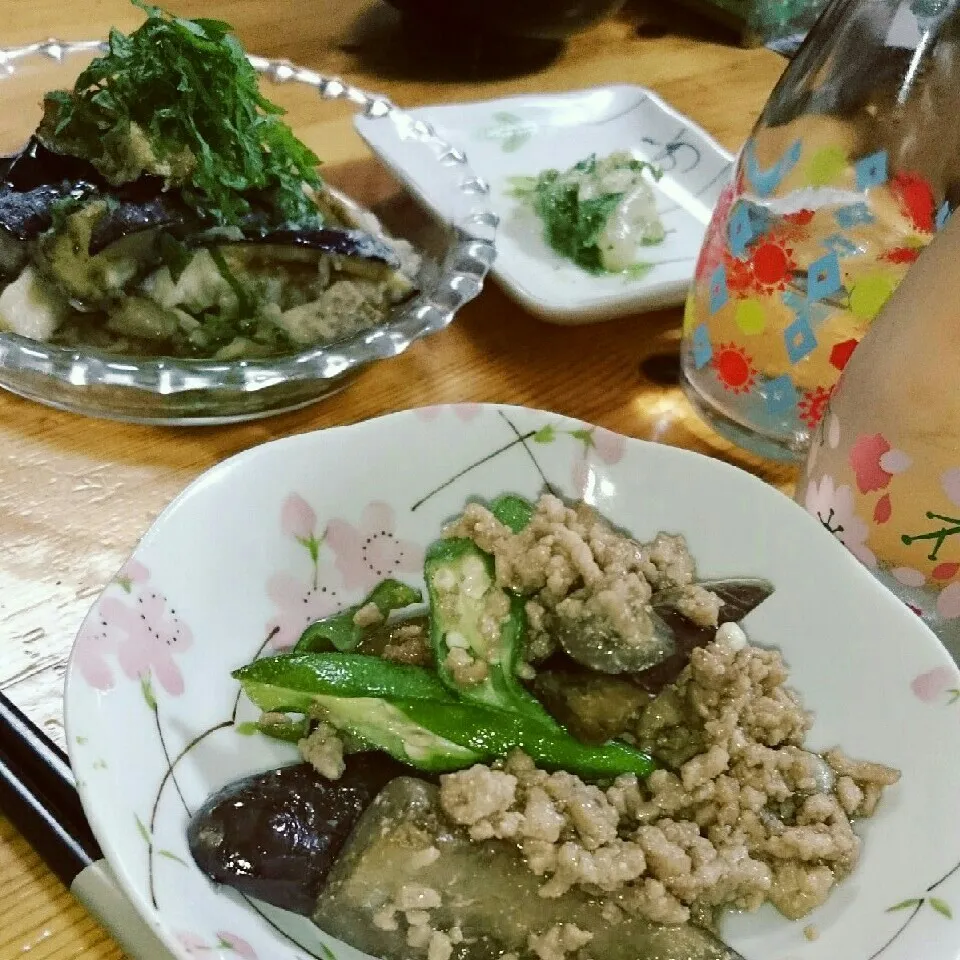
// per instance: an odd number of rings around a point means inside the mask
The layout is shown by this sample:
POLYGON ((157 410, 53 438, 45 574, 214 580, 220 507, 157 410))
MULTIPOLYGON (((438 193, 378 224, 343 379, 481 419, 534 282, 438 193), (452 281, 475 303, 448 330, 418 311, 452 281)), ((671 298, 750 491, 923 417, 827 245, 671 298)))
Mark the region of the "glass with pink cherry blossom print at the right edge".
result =
POLYGON ((843 372, 797 501, 960 661, 960 217, 843 372))

